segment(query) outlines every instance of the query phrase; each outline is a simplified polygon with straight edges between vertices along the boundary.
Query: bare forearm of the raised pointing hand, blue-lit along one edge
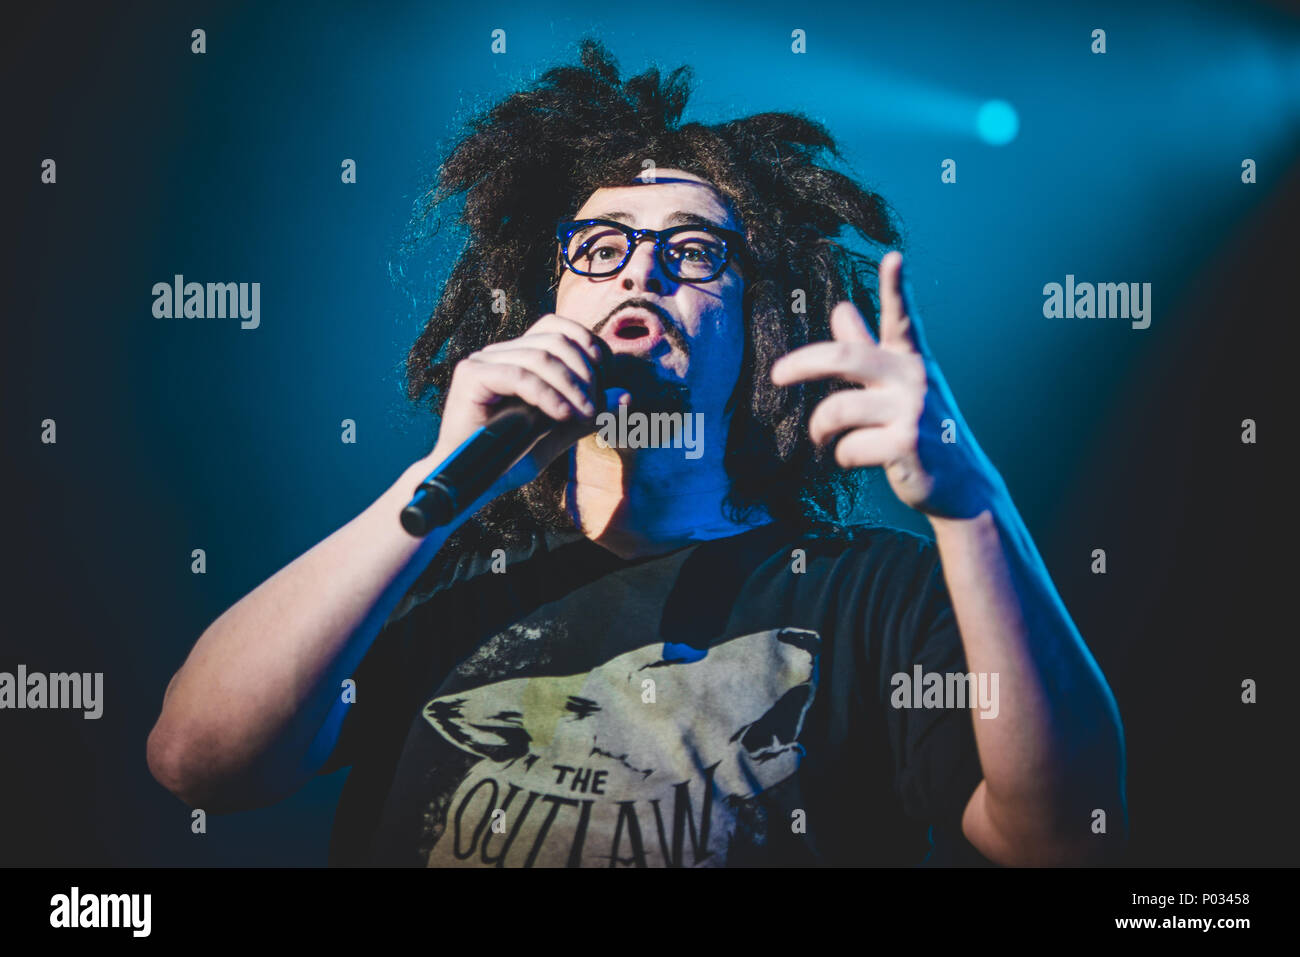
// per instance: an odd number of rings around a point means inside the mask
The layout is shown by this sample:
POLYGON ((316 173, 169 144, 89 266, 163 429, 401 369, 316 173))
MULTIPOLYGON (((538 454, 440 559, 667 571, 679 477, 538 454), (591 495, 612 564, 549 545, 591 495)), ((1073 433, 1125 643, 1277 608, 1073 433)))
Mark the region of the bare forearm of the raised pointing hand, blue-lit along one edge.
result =
POLYGON ((1101 844, 1096 809, 1110 832, 1127 828, 1123 732, 1010 498, 993 502, 971 519, 932 519, 967 667, 998 675, 997 716, 972 714, 984 771, 972 806, 1004 857, 1065 859, 1101 844))

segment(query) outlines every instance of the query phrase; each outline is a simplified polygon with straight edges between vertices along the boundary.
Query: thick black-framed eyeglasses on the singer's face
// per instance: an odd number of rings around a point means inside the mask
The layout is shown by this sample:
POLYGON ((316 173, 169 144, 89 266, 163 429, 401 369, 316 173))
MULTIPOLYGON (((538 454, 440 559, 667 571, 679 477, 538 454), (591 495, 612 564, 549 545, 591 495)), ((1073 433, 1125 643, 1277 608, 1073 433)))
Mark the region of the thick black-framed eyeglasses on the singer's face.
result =
POLYGON ((564 265, 590 277, 619 272, 644 237, 654 239, 659 265, 680 282, 711 282, 728 263, 749 261, 745 237, 722 226, 633 229, 614 220, 573 220, 555 228, 564 265))

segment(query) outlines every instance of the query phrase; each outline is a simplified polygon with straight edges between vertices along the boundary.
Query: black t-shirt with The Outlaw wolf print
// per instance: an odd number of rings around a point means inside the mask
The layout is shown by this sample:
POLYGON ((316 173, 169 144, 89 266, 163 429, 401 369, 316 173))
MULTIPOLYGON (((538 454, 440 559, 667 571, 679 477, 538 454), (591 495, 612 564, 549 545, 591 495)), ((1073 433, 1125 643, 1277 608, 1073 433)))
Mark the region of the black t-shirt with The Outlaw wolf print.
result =
POLYGON ((332 865, 987 863, 933 542, 772 523, 625 560, 581 533, 426 572, 358 666, 321 774, 332 865))

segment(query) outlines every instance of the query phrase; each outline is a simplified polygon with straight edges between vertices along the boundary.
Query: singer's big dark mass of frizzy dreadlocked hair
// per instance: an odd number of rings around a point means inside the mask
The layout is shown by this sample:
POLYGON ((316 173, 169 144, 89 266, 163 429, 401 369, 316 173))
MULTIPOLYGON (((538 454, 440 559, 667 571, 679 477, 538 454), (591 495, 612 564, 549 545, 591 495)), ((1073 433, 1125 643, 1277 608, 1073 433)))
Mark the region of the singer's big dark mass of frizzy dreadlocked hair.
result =
MULTIPOLYGON (((552 312, 562 268, 555 224, 572 218, 597 189, 632 182, 653 157, 658 168, 702 177, 732 204, 757 267, 746 272, 745 355, 727 406, 727 516, 744 524, 759 511, 810 532, 844 528, 863 476, 838 467, 807 434, 812 408, 842 384, 781 387, 768 371, 790 350, 831 338, 829 309, 841 299, 878 328, 879 259, 836 237, 848 225, 872 243, 901 246, 888 203, 815 163, 822 151, 840 153, 827 130, 805 116, 679 125, 689 66, 666 81, 651 68, 620 82, 598 40, 584 39, 580 53, 581 66, 547 70, 532 88, 474 116, 417 202, 415 225, 465 194, 459 222, 468 241, 407 355, 407 398, 441 415, 456 363, 552 312)), ((499 545, 538 529, 572 529, 563 508, 567 480, 562 455, 536 481, 480 510, 456 538, 462 546, 499 545)))

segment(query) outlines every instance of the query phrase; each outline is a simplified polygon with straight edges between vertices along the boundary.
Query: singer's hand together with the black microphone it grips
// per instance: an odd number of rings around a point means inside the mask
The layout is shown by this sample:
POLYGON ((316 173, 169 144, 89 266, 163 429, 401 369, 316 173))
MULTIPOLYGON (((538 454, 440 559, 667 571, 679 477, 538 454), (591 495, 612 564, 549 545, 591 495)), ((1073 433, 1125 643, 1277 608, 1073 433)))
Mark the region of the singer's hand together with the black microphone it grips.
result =
POLYGON ((602 381, 610 359, 598 335, 550 313, 458 363, 429 455, 438 465, 403 508, 402 527, 428 534, 494 484, 504 494, 533 481, 627 395, 602 381))

